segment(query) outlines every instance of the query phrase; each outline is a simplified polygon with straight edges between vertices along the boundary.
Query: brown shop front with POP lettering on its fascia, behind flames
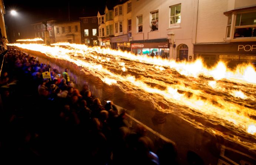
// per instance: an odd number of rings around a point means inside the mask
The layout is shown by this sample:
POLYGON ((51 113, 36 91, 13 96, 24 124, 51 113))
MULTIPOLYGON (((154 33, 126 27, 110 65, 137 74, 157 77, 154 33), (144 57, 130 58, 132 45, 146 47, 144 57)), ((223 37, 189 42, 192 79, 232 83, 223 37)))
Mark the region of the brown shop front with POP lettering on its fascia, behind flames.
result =
POLYGON ((225 61, 229 67, 239 63, 256 65, 256 42, 230 42, 225 44, 195 44, 195 58, 201 57, 208 66, 225 61))

